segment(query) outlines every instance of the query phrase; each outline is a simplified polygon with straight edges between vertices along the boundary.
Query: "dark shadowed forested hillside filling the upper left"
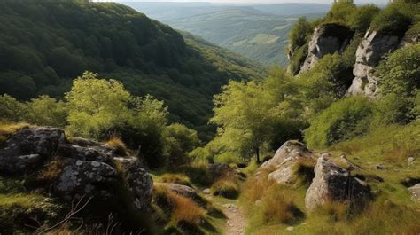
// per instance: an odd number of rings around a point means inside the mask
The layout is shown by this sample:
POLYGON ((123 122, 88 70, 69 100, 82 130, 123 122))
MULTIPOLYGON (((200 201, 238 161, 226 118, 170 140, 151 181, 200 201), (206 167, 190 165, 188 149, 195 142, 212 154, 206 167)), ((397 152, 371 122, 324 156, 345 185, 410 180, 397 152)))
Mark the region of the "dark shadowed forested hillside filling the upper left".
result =
POLYGON ((135 95, 165 100, 171 120, 206 134, 220 87, 261 75, 245 59, 193 37, 184 40, 121 4, 6 1, 0 34, 1 94, 63 98, 72 80, 89 70, 121 80, 135 95))

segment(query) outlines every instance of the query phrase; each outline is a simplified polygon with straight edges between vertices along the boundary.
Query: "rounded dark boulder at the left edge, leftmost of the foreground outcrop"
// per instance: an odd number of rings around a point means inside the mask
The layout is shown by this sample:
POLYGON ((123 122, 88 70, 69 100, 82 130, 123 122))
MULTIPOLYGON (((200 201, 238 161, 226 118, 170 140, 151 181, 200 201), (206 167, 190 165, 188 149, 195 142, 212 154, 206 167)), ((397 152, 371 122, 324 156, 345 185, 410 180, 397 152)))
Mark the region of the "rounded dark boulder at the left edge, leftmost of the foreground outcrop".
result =
POLYGON ((0 149, 0 173, 21 174, 39 167, 65 143, 63 129, 37 127, 20 129, 0 149))

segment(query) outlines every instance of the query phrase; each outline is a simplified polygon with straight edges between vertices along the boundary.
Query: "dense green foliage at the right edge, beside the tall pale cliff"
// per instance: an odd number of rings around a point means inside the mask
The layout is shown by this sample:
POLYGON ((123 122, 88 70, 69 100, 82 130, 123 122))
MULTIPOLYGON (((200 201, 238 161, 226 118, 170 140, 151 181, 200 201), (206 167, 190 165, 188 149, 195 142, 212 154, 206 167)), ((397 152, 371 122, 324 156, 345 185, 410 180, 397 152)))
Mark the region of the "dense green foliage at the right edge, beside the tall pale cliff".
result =
POLYGON ((378 119, 385 124, 416 119, 420 90, 420 45, 394 51, 377 67, 379 89, 378 119), (417 105, 416 105, 417 103, 417 105))

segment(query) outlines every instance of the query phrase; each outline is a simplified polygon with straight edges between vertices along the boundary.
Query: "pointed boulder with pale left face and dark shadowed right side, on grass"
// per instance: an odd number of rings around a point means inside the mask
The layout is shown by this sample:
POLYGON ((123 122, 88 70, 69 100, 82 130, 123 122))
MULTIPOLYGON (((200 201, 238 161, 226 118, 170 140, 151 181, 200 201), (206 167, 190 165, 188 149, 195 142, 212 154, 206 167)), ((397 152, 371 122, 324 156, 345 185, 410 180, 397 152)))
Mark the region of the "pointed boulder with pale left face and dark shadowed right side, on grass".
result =
POLYGON ((331 201, 349 202, 352 208, 362 208, 370 198, 369 185, 338 167, 323 154, 316 162, 315 177, 307 189, 305 206, 308 209, 324 206, 331 201))

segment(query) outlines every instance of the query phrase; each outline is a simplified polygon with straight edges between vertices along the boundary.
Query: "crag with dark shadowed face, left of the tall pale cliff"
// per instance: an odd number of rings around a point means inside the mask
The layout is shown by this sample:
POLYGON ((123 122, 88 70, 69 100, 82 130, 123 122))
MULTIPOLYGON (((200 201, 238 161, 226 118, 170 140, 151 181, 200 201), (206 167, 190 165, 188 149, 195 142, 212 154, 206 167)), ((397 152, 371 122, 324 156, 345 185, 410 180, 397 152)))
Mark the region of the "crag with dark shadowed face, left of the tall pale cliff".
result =
POLYGON ((354 32, 350 28, 338 24, 316 27, 308 45, 307 58, 300 71, 311 69, 327 54, 343 52, 353 35, 354 32))

